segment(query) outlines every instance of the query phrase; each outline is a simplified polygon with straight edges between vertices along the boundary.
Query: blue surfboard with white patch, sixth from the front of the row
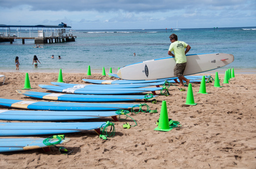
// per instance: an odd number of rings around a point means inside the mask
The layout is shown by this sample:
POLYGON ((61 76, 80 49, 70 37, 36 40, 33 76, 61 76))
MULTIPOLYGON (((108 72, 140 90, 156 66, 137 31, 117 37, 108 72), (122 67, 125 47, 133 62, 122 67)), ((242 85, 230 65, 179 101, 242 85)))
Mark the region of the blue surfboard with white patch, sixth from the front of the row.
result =
POLYGON ((51 91, 57 91, 67 94, 87 94, 87 95, 120 95, 120 94, 138 94, 142 92, 154 92, 161 90, 163 87, 145 87, 145 88, 92 88, 91 90, 79 87, 61 87, 39 84, 39 87, 51 91))

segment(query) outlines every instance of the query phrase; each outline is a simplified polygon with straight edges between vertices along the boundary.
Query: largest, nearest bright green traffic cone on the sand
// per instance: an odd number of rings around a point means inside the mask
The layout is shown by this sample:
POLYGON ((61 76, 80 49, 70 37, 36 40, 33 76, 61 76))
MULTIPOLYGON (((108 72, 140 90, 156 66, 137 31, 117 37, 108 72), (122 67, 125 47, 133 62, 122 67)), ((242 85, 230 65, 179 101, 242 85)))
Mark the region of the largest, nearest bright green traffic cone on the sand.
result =
POLYGON ((169 126, 167 104, 166 104, 166 101, 163 100, 162 106, 161 106, 159 123, 158 123, 158 126, 154 130, 157 130, 157 131, 170 131, 172 129, 173 128, 169 126))

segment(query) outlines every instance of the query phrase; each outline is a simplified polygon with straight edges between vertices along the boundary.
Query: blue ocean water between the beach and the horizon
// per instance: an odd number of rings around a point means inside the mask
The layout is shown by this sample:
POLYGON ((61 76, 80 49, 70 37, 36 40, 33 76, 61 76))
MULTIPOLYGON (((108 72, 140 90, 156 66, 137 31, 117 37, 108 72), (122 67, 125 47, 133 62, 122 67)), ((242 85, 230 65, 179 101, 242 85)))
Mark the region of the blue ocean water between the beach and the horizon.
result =
MULTIPOLYGON (((118 67, 140 61, 169 57, 169 35, 176 33, 178 40, 191 46, 188 54, 227 53, 234 55, 233 63, 223 69, 256 69, 255 50, 256 27, 250 28, 201 28, 146 29, 146 30, 72 30, 67 34, 76 35, 75 42, 40 44, 34 48, 34 40, 16 39, 0 43, 0 72, 16 72, 15 57, 19 56, 20 72, 62 72, 86 73, 88 65, 92 72, 101 73, 111 67, 116 73, 118 67), (136 56, 134 56, 134 52, 136 56), (41 64, 32 65, 33 56, 41 64), (54 55, 55 58, 51 59, 54 55), (57 59, 58 55, 62 59, 57 59)), ((6 30, 0 30, 5 34, 6 30)), ((37 30, 12 30, 19 37, 37 36, 37 30)))

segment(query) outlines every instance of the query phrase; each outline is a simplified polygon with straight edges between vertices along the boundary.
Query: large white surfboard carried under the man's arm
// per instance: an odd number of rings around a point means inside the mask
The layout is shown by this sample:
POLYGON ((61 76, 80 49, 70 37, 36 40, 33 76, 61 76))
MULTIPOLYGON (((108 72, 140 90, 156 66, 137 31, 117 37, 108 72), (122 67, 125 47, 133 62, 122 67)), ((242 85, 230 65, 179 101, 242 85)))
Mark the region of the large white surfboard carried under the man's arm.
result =
MULTIPOLYGON (((207 72, 228 65, 234 61, 231 54, 194 54, 186 55, 187 65, 184 75, 207 72)), ((174 77, 174 57, 165 57, 123 66, 118 77, 126 80, 153 80, 174 77)))

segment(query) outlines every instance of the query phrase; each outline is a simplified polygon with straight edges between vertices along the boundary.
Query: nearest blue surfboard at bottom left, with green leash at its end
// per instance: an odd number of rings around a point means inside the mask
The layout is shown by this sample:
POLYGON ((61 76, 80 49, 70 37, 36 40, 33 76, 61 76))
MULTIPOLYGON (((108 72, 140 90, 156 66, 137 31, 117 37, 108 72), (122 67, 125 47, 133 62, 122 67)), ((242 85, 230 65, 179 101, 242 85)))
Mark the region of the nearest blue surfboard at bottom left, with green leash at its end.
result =
MULTIPOLYGON (((23 150, 32 150, 45 148, 49 145, 45 145, 43 141, 46 138, 10 138, 10 139, 0 139, 0 152, 16 152, 23 150)), ((50 139, 49 143, 56 143, 58 139, 50 139)), ((69 142, 69 138, 61 140, 61 143, 69 142)))

